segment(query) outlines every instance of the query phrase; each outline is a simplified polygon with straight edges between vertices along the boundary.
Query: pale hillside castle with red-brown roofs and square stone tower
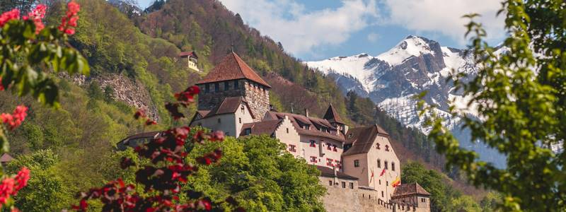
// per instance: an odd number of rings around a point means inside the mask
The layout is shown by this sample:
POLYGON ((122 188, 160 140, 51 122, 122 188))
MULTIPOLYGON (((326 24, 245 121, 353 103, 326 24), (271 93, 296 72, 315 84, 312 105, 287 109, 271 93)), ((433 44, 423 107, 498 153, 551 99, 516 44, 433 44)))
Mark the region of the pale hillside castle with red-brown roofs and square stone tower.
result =
POLYGON ((350 128, 328 106, 323 118, 277 112, 271 86, 231 52, 197 83, 201 93, 191 126, 227 136, 267 134, 322 173, 328 211, 430 211, 430 194, 401 184, 400 160, 380 126, 350 128))

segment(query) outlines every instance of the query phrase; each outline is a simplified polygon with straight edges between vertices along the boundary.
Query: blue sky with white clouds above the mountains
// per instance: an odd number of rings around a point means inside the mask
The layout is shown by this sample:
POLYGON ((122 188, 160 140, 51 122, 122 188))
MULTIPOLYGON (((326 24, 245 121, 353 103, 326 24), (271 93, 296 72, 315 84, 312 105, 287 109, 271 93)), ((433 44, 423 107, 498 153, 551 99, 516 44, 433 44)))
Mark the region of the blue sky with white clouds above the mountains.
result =
MULTIPOLYGON (((139 0, 141 7, 153 0, 139 0)), ((467 13, 480 13, 492 44, 502 40, 497 0, 221 0, 263 35, 282 42, 287 52, 304 61, 377 55, 407 35, 442 46, 466 47, 467 13)))

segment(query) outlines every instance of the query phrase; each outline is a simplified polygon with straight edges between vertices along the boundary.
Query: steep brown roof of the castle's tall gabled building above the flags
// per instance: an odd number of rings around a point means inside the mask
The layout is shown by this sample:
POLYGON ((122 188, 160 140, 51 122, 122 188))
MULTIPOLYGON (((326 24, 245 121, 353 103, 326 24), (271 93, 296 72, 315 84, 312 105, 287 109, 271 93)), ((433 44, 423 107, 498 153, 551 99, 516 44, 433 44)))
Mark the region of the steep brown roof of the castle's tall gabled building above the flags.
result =
POLYGON ((352 143, 352 147, 342 153, 342 155, 368 153, 378 135, 389 136, 389 134, 381 129, 380 126, 377 126, 377 124, 348 129, 346 133, 346 143, 352 143))

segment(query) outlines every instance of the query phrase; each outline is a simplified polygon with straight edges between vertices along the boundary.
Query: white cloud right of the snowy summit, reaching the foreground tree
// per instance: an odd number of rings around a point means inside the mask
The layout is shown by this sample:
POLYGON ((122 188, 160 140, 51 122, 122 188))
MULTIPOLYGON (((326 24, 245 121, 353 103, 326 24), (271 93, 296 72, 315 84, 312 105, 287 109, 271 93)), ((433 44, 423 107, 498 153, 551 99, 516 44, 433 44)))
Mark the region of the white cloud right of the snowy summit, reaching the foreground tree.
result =
MULTIPOLYGON (((464 25, 468 13, 479 13, 478 19, 484 25, 490 39, 499 39, 504 36, 504 17, 496 18, 501 8, 501 1, 497 0, 382 0, 388 13, 385 23, 400 25, 409 30, 421 32, 438 32, 452 39, 465 43, 464 25)), ((381 5, 381 4, 380 4, 381 5)), ((383 24, 383 23, 382 23, 383 24)))

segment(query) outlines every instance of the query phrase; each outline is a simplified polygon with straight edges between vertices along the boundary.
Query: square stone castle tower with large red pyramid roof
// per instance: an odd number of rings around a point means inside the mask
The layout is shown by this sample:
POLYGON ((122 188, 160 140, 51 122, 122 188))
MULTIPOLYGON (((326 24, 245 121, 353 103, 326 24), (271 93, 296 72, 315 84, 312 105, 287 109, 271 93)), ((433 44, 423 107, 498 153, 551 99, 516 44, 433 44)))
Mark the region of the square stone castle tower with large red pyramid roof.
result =
POLYGON ((238 96, 248 102, 255 122, 270 110, 271 86, 234 52, 224 57, 197 86, 201 90, 198 110, 212 110, 224 98, 238 96))

